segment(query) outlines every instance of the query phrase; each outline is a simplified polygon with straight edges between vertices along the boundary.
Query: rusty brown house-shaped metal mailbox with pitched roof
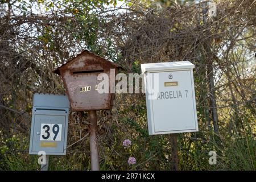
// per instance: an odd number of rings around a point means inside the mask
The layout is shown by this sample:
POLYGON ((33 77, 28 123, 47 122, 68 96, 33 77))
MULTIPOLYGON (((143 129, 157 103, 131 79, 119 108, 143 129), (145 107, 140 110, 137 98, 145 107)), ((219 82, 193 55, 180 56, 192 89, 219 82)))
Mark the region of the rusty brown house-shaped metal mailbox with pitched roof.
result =
POLYGON ((72 110, 105 110, 113 105, 114 93, 110 93, 110 87, 115 85, 110 78, 115 79, 118 68, 121 68, 118 64, 85 50, 53 72, 61 76, 72 110), (100 73, 108 75, 108 93, 98 92, 100 73))

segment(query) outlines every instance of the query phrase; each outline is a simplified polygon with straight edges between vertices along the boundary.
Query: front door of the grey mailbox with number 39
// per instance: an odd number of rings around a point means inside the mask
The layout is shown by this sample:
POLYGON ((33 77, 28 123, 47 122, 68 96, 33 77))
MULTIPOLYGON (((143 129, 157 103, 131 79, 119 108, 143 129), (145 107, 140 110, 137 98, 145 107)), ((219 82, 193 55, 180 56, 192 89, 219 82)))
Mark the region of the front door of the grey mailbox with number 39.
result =
POLYGON ((67 113, 61 110, 36 110, 32 116, 31 154, 45 151, 47 155, 65 155, 67 113))

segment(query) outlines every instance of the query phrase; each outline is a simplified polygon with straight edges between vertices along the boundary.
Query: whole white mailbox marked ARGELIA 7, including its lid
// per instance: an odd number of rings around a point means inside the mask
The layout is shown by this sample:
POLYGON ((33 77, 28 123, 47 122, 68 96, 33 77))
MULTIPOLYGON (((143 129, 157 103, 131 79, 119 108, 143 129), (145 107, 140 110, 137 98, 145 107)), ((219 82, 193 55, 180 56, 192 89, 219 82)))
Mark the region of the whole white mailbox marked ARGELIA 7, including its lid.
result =
POLYGON ((141 64, 150 135, 198 131, 193 68, 189 61, 141 64))

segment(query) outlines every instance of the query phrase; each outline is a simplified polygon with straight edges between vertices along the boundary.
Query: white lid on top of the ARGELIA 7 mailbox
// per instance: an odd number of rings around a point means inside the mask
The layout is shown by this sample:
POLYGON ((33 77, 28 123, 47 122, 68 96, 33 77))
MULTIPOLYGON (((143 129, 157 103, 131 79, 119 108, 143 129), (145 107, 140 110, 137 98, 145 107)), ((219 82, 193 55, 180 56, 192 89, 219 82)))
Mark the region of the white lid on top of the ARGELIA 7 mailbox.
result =
POLYGON ((195 68, 195 65, 190 63, 189 61, 141 64, 142 73, 147 71, 164 71, 164 70, 171 70, 171 69, 189 69, 189 68, 195 68))

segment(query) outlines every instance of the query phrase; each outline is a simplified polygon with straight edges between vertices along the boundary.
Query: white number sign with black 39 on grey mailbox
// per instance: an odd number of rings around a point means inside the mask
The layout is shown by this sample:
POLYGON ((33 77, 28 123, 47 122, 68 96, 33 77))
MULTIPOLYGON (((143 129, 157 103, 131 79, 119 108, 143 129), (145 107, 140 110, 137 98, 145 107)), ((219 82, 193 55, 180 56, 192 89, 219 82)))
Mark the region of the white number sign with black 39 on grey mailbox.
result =
POLYGON ((41 124, 40 140, 60 141, 62 125, 41 124))

